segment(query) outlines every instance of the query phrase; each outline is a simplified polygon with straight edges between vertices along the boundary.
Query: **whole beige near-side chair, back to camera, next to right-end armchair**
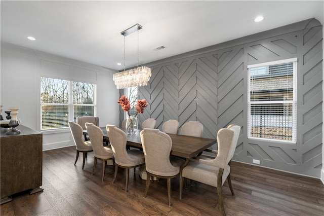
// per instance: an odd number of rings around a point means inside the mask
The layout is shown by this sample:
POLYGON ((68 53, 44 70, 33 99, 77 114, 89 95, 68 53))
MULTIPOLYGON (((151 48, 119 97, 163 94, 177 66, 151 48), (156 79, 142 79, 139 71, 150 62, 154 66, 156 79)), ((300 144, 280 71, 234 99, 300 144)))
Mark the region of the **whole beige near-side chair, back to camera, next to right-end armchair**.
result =
POLYGON ((146 187, 144 197, 150 185, 150 176, 167 178, 169 206, 171 206, 171 178, 179 174, 184 160, 170 159, 172 140, 170 136, 158 129, 144 128, 141 131, 141 141, 145 156, 146 187))

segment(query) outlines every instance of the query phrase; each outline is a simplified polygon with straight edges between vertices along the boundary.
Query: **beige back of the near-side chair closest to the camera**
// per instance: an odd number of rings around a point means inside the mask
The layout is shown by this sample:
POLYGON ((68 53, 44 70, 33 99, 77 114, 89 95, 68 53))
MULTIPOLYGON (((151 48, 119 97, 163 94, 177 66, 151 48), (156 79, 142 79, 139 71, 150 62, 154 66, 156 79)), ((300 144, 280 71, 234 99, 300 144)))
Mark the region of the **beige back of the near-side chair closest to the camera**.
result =
POLYGON ((144 128, 141 131, 141 141, 148 172, 160 176, 179 173, 180 167, 175 167, 170 162, 172 140, 168 134, 159 129, 144 128))

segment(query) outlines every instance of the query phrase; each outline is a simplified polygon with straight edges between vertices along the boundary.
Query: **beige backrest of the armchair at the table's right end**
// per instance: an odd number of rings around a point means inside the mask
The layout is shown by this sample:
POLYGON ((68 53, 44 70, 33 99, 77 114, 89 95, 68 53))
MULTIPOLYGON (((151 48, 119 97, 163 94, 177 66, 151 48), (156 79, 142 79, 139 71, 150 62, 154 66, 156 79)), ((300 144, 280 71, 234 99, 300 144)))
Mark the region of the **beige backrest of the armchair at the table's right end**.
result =
POLYGON ((229 125, 227 128, 218 131, 218 153, 214 159, 218 167, 224 169, 233 158, 240 130, 241 127, 238 125, 229 125))

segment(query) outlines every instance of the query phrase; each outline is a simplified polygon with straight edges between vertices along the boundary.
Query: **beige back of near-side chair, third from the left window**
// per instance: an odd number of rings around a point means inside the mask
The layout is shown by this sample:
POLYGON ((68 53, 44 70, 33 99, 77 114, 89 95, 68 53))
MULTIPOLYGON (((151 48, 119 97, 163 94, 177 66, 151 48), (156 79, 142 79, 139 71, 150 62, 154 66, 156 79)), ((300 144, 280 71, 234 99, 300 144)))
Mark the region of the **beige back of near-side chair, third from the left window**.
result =
POLYGON ((106 125, 106 130, 115 162, 121 166, 132 166, 133 160, 129 157, 126 150, 126 133, 115 125, 106 125))

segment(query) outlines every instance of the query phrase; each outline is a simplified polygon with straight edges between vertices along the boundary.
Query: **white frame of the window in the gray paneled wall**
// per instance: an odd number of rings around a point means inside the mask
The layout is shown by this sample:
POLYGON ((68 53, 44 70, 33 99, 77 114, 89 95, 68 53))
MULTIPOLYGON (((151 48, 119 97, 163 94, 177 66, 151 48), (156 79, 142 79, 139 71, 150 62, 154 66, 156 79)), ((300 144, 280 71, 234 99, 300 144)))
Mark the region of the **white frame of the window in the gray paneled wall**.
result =
POLYGON ((278 61, 264 62, 259 64, 248 65, 248 115, 247 115, 247 135, 248 139, 296 143, 297 139, 297 61, 298 58, 290 58, 278 61), (251 70, 250 68, 271 66, 277 64, 293 63, 293 99, 292 100, 267 100, 267 101, 251 101, 251 70), (289 104, 292 103, 292 140, 281 140, 275 138, 263 138, 251 136, 251 104, 289 104))

